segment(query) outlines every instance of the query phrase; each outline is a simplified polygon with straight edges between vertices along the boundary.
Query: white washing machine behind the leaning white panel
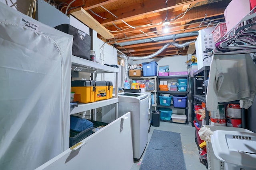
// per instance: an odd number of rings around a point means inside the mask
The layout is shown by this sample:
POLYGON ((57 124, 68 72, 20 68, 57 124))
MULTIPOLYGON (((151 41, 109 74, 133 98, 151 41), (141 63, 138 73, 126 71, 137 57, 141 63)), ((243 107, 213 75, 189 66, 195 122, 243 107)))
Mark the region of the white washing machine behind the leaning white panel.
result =
POLYGON ((131 112, 133 157, 139 159, 148 142, 148 94, 118 91, 118 117, 131 112))

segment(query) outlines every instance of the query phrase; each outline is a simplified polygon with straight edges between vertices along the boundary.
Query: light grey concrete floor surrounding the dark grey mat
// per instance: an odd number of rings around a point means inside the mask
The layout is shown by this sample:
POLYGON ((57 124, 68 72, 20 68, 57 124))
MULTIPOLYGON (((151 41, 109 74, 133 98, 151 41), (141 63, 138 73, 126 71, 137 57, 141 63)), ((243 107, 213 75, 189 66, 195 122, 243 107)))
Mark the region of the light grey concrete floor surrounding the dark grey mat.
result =
MULTIPOLYGON (((207 170, 206 166, 204 166, 202 163, 200 163, 198 158, 198 148, 195 143, 195 127, 192 127, 191 123, 188 125, 179 124, 179 123, 169 123, 169 122, 160 122, 159 127, 151 126, 150 132, 148 133, 148 143, 150 141, 150 138, 153 133, 153 129, 162 130, 162 131, 172 131, 180 133, 181 142, 182 142, 182 148, 184 153, 184 159, 186 163, 187 170, 207 170)), ((148 146, 148 144, 147 144, 148 146)), ((146 147, 147 147, 146 146, 146 147)), ((134 164, 131 168, 131 170, 139 170, 140 164, 143 160, 143 156, 145 154, 142 154, 142 157, 140 160, 136 161, 134 160, 134 164)))

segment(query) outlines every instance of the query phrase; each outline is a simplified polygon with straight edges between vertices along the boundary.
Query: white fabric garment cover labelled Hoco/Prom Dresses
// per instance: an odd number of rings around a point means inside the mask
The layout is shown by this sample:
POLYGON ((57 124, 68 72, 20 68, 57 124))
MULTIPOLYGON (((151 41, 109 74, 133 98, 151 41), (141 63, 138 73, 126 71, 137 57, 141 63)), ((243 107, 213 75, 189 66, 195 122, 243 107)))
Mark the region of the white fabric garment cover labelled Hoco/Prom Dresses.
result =
POLYGON ((0 167, 32 170, 69 146, 73 37, 0 3, 0 167))

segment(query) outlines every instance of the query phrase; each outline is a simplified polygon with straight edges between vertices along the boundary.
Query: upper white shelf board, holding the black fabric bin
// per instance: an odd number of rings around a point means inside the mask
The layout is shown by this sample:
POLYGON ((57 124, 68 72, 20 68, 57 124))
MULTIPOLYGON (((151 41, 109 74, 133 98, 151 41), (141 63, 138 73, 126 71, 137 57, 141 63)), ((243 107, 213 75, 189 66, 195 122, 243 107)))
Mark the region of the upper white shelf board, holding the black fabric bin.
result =
POLYGON ((71 57, 72 71, 90 72, 90 73, 119 73, 118 68, 106 66, 80 57, 71 57))

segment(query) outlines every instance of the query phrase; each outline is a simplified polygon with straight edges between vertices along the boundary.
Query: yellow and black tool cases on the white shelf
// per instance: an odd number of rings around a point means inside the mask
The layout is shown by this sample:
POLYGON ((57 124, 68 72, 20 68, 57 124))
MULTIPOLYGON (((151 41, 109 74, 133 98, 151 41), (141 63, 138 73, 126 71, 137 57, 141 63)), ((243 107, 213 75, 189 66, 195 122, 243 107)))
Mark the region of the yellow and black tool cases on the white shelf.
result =
POLYGON ((111 81, 74 80, 71 82, 71 92, 74 101, 90 103, 112 97, 113 83, 111 81))

